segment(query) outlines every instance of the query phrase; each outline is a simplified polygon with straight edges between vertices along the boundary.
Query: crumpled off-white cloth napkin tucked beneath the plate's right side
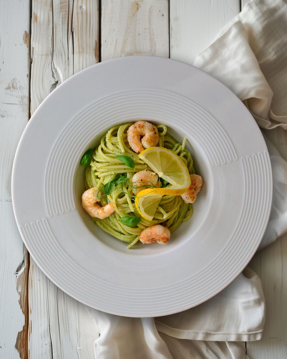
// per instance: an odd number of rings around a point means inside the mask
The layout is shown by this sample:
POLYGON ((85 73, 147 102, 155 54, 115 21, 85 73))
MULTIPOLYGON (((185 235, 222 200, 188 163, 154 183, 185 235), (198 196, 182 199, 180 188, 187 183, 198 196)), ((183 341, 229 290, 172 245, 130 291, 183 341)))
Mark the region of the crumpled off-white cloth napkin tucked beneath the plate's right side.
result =
MULTIPOLYGON (((287 5, 247 4, 194 62, 229 87, 260 127, 287 129, 287 5)), ((287 163, 264 137, 273 173, 270 220, 259 249, 287 230, 287 163)), ((250 268, 221 293, 187 311, 127 318, 86 307, 100 333, 97 359, 248 358, 239 341, 259 340, 265 314, 260 279, 250 268)))

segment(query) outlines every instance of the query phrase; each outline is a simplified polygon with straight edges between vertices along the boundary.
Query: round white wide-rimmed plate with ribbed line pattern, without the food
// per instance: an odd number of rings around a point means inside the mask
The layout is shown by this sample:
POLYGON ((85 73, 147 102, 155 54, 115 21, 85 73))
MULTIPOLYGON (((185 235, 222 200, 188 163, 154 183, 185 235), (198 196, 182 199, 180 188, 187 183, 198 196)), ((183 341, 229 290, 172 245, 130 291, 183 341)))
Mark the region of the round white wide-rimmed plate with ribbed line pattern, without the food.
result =
POLYGON ((271 197, 267 147, 240 100, 193 66, 148 56, 102 62, 56 88, 25 128, 12 174, 17 224, 43 272, 88 306, 131 317, 183 311, 224 289, 256 251, 271 197), (187 137, 204 185, 168 244, 127 250, 81 208, 79 163, 110 126, 138 117, 187 137))

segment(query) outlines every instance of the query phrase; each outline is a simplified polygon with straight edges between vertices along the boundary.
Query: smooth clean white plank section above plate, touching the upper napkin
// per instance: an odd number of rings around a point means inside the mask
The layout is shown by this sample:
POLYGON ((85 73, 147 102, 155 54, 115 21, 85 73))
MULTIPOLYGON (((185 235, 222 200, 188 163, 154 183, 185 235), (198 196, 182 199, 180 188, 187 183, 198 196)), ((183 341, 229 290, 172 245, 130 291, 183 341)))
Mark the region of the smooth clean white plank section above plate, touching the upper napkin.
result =
POLYGON ((239 11, 239 0, 170 0, 170 58, 193 64, 239 11))

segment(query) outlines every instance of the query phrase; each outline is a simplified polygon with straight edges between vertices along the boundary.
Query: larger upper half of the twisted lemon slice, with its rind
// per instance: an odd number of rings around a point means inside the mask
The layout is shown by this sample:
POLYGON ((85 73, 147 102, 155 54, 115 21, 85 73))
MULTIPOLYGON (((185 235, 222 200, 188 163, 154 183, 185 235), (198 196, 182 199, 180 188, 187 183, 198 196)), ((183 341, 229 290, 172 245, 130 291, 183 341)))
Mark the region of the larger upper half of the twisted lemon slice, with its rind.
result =
POLYGON ((173 151, 164 147, 150 147, 142 151, 138 157, 159 177, 171 184, 168 188, 153 188, 156 194, 183 195, 187 191, 190 186, 188 169, 183 160, 173 151))

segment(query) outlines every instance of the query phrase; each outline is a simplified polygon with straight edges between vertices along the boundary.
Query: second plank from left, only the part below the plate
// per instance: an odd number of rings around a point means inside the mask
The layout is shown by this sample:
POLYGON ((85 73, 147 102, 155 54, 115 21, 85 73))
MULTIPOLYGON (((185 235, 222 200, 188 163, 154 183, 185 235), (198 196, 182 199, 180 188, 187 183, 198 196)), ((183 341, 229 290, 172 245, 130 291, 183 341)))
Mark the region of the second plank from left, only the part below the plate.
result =
POLYGON ((84 304, 53 284, 33 259, 29 278, 29 358, 92 359, 99 333, 84 304))

